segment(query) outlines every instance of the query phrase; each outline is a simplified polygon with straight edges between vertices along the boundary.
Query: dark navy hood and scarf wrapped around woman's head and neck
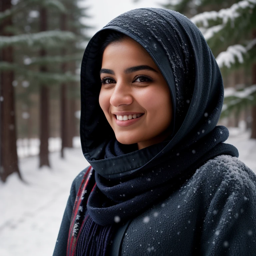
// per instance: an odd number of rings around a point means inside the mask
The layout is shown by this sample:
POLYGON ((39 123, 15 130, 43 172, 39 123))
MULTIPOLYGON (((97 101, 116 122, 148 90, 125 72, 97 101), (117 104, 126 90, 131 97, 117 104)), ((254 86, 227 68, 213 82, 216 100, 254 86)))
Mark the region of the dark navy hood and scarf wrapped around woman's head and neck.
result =
POLYGON ((216 126, 223 97, 215 58, 200 30, 184 15, 162 8, 134 9, 98 31, 81 66, 81 145, 96 182, 87 202, 92 220, 105 226, 116 216, 132 218, 168 196, 209 159, 222 154, 238 157, 234 146, 223 143, 227 128, 216 126), (116 140, 99 106, 99 49, 108 30, 141 44, 170 88, 173 133, 161 143, 125 151, 127 145, 116 140))

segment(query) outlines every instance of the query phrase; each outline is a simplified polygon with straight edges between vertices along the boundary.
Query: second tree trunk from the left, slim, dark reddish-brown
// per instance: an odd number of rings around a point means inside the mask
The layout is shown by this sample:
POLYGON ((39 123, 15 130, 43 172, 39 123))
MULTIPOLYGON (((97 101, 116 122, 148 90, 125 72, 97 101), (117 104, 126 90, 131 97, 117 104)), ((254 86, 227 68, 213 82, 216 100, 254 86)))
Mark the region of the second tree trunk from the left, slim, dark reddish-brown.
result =
MULTIPOLYGON (((40 8, 40 31, 47 30, 47 10, 40 8)), ((40 56, 46 56, 45 49, 40 50, 40 56)), ((40 66, 40 72, 46 72, 46 66, 40 66)), ((40 85, 40 153, 39 167, 50 167, 48 140, 50 135, 49 122, 49 88, 45 84, 40 85)))

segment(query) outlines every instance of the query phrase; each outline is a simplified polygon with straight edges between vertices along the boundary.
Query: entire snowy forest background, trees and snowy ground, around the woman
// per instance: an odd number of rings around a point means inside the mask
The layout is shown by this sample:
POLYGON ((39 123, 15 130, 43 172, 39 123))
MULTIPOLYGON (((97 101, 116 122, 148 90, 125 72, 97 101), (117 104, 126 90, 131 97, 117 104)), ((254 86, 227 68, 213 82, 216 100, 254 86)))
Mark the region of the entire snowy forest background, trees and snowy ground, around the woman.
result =
POLYGON ((190 18, 222 72, 227 143, 256 173, 256 0, 158 1, 0 0, 0 255, 52 255, 71 183, 89 165, 79 121, 91 8, 95 25, 141 7, 190 18))

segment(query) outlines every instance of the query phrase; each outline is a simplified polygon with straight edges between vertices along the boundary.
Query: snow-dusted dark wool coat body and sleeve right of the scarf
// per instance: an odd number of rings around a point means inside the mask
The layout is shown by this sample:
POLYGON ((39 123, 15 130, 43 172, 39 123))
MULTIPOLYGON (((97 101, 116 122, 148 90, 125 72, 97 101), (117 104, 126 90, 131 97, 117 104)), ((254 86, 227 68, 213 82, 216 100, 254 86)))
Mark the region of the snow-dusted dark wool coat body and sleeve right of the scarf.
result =
POLYGON ((255 191, 251 169, 236 157, 217 156, 132 219, 119 255, 256 255, 255 191))

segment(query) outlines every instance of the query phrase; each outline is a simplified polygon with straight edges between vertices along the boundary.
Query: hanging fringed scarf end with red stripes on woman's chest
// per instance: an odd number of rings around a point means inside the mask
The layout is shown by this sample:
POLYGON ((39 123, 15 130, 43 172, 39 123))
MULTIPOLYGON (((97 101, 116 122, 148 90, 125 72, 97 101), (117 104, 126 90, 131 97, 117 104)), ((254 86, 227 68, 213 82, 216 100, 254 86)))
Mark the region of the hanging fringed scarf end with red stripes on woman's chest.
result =
POLYGON ((71 217, 67 256, 105 256, 113 225, 96 224, 86 211, 90 192, 95 188, 94 169, 90 166, 80 184, 71 217))

